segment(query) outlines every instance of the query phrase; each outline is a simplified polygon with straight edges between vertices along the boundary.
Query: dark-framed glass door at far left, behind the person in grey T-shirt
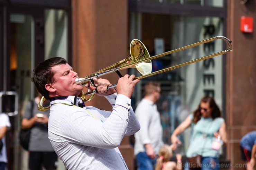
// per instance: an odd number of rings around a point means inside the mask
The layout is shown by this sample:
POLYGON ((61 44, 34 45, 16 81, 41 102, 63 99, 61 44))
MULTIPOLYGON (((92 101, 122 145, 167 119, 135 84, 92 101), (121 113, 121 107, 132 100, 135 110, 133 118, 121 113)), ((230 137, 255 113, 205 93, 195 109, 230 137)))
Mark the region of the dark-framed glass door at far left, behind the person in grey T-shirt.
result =
MULTIPOLYGON (((8 170, 27 169, 28 153, 19 146, 18 132, 23 109, 34 98, 31 70, 38 61, 44 60, 43 10, 6 8, 4 23, 4 76, 6 91, 18 94, 18 114, 10 116, 11 129, 7 134, 8 170)), ((1 69, 2 70, 2 69, 1 69)))

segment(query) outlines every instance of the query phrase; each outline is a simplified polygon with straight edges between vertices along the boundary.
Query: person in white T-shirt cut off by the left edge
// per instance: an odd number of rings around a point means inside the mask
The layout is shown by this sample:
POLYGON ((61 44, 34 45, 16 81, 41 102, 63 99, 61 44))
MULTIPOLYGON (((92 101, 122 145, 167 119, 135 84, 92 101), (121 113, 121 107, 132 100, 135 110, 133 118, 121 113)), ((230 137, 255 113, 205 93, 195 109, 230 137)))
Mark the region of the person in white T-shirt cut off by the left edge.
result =
POLYGON ((11 123, 6 113, 0 113, 0 140, 3 143, 2 149, 0 149, 0 170, 5 170, 7 160, 5 134, 10 129, 11 123))

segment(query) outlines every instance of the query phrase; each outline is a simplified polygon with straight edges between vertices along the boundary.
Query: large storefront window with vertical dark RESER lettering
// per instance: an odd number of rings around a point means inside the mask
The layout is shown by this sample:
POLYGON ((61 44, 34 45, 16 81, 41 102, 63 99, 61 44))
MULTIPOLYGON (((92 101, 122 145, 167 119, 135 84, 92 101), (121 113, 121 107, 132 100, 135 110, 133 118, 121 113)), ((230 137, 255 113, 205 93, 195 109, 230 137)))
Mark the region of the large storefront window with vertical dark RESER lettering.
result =
MULTIPOLYGON (((130 40, 144 43, 150 56, 181 48, 214 36, 223 35, 223 23, 218 17, 185 17, 163 14, 130 13, 130 40)), ((211 53, 223 51, 221 40, 189 48, 152 60, 152 71, 176 66, 211 53)), ((139 76, 137 71, 130 73, 139 76)), ((162 96, 157 103, 164 129, 163 140, 171 143, 174 129, 197 107, 200 99, 214 97, 222 110, 222 56, 189 64, 168 72, 141 79, 134 93, 134 104, 143 97, 143 86, 148 81, 161 82, 162 96)), ((190 130, 180 135, 184 154, 189 146, 190 130)))

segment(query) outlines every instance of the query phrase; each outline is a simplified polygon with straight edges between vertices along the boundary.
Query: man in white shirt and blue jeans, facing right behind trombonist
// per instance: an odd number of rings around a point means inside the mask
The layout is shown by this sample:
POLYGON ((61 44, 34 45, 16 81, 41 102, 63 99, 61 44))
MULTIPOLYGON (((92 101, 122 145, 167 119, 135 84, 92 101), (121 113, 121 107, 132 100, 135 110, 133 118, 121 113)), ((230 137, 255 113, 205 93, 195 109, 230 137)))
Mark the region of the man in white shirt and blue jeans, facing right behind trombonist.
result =
POLYGON ((156 106, 161 96, 160 83, 153 81, 146 83, 144 93, 144 98, 135 110, 140 130, 134 135, 134 154, 138 170, 153 170, 158 151, 163 146, 163 128, 156 106))

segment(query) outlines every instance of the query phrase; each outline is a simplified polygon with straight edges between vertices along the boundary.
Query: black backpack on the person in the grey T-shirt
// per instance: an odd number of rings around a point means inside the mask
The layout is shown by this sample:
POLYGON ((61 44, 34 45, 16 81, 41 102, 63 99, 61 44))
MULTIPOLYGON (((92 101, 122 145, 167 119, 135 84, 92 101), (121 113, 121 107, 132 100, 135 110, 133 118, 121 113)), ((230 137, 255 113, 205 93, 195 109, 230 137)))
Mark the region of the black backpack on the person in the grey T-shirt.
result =
MULTIPOLYGON (((34 108, 34 101, 31 100, 30 102, 31 102, 30 114, 31 114, 31 118, 32 118, 32 115, 33 115, 32 112, 33 112, 33 108, 34 108)), ((32 128, 33 127, 29 128, 29 129, 20 129, 20 132, 19 132, 19 143, 20 143, 20 146, 25 150, 28 150, 30 132, 31 132, 32 128)))

